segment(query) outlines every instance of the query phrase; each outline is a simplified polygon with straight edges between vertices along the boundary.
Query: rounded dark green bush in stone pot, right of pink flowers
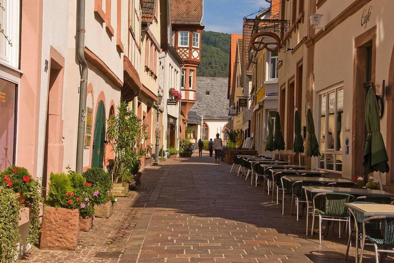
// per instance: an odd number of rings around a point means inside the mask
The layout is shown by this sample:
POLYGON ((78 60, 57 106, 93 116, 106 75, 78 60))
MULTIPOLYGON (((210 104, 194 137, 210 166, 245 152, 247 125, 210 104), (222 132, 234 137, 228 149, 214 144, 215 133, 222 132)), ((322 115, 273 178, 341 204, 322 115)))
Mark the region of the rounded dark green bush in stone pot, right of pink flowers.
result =
POLYGON ((116 198, 111 194, 111 175, 102 168, 93 167, 87 169, 83 176, 86 180, 85 184, 90 187, 94 215, 100 218, 109 218, 113 213, 113 203, 116 201, 116 198))

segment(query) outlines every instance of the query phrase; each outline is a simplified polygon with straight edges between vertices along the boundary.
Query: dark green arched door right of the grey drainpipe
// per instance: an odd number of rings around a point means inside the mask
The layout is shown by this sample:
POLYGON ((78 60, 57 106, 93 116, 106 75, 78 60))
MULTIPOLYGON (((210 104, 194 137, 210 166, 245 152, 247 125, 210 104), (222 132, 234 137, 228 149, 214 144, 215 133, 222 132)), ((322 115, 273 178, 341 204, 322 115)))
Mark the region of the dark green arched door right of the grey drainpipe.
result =
POLYGON ((97 107, 95 131, 93 135, 92 167, 102 168, 105 155, 105 108, 100 101, 97 107))

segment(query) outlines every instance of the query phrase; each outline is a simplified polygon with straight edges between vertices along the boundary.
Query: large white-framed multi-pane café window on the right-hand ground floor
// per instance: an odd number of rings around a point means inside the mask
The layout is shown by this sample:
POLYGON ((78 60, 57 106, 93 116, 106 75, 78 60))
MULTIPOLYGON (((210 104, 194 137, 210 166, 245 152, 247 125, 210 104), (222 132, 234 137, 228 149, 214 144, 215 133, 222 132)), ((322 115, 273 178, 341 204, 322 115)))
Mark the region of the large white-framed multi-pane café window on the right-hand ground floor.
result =
POLYGON ((320 169, 342 172, 343 108, 343 84, 319 93, 320 169))

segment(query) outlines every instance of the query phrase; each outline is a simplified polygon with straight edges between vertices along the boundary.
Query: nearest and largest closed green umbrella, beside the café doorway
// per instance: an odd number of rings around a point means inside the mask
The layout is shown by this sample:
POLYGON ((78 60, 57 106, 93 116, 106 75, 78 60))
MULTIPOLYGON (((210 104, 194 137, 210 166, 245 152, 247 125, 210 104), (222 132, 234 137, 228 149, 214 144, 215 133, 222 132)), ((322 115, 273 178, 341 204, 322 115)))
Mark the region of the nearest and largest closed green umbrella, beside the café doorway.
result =
POLYGON ((379 172, 380 189, 383 189, 381 173, 387 173, 390 169, 387 163, 388 156, 385 142, 380 132, 379 106, 372 88, 368 90, 365 101, 365 126, 367 138, 364 149, 364 162, 362 162, 362 165, 367 173, 379 172))

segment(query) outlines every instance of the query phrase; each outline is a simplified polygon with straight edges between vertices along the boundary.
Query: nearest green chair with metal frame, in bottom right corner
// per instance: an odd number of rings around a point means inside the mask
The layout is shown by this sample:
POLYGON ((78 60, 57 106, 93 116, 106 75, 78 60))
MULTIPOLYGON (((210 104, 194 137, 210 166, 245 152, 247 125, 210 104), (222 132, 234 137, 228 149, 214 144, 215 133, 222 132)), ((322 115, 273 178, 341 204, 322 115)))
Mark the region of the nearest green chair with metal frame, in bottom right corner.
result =
POLYGON ((365 239, 368 239, 375 247, 375 261, 379 263, 379 252, 394 253, 394 216, 371 216, 362 220, 362 245, 360 263, 362 263, 362 255, 364 253, 365 239), (377 229, 369 231, 367 225, 370 222, 375 222, 376 226, 379 224, 379 234, 377 229), (379 222, 379 223, 377 223, 379 222))

